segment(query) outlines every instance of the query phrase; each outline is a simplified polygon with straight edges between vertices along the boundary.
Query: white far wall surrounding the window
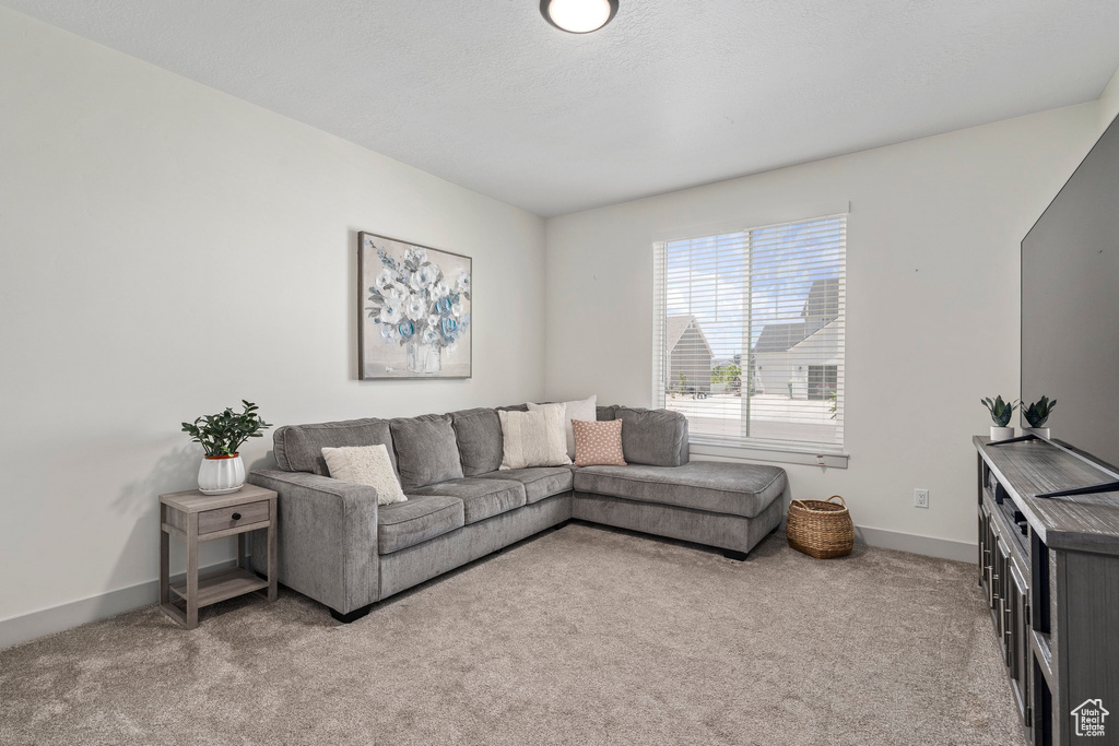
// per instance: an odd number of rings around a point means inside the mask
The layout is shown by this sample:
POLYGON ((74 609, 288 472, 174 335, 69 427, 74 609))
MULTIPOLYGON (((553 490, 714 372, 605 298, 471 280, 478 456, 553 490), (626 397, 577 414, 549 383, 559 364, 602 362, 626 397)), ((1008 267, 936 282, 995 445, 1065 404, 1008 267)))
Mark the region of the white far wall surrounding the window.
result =
POLYGON ((859 526, 966 550, 976 533, 970 438, 989 425, 979 398, 1017 395, 1018 244, 1099 135, 1099 108, 1043 112, 549 219, 547 396, 649 404, 653 235, 816 217, 849 200, 850 462, 789 465, 791 493, 840 493, 859 526), (931 490, 930 509, 913 508, 914 488, 931 490))

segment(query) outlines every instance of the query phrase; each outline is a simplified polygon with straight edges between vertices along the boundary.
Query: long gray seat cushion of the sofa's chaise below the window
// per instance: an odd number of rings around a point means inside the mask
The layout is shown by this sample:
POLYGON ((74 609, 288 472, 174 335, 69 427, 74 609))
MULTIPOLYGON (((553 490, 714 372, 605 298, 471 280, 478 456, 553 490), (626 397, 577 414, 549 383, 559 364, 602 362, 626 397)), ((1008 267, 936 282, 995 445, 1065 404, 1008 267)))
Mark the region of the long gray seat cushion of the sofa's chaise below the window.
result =
MULTIPOLYGON (((622 425, 622 433, 626 426, 622 425)), ((753 518, 784 492, 780 466, 693 461, 683 466, 584 466, 575 490, 753 518)))

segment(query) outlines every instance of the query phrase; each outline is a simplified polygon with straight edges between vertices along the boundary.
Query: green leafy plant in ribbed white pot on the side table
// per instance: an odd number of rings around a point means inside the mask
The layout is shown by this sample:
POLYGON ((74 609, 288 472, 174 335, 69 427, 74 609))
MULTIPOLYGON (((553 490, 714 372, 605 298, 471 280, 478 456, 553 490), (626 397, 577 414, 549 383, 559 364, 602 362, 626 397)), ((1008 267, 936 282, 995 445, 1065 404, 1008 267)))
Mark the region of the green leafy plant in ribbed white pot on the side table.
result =
POLYGON ((245 464, 239 448, 261 431, 272 427, 256 414, 256 405, 241 400, 244 412, 226 407, 216 415, 203 415, 192 423, 182 423, 182 432, 199 443, 206 455, 198 469, 198 491, 203 494, 229 494, 245 484, 245 464))

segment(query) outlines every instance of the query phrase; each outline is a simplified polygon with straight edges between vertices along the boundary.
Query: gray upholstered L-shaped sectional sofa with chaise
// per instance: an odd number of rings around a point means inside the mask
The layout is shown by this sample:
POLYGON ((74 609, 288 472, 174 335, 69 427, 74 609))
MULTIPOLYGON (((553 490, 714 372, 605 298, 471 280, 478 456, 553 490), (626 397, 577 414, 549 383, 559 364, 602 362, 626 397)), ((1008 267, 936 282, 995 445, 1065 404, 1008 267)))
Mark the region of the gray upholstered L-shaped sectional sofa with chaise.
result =
MULTIPOLYGON (((622 421, 629 465, 499 471, 501 425, 488 408, 278 428, 280 469, 248 481, 280 494, 280 583, 349 622, 571 519, 709 545, 735 559, 780 525, 784 470, 689 461, 678 413, 611 406, 598 418, 622 421), (321 448, 374 444, 387 446, 406 502, 378 507, 373 488, 328 476, 321 448)), ((263 567, 262 542, 253 544, 253 564, 263 567)))

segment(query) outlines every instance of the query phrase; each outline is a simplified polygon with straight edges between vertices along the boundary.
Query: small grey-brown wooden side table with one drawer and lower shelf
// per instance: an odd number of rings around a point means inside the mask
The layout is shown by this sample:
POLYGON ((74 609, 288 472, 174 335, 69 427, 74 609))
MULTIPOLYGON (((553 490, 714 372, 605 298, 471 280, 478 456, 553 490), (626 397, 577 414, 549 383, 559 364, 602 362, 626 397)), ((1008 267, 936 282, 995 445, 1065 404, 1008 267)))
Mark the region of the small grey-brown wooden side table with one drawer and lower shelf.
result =
POLYGON ((198 626, 198 608, 244 593, 267 588, 276 599, 276 493, 246 484, 233 494, 207 495, 198 490, 159 495, 159 605, 188 630, 198 626), (267 529, 269 577, 248 568, 245 533, 267 529), (170 584, 171 536, 187 545, 187 579, 170 584), (198 544, 237 537, 237 565, 198 577, 198 544), (187 611, 171 603, 171 594, 187 602, 187 611))

